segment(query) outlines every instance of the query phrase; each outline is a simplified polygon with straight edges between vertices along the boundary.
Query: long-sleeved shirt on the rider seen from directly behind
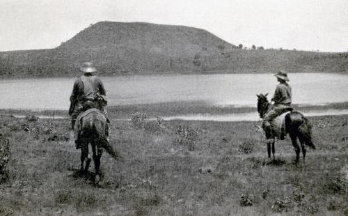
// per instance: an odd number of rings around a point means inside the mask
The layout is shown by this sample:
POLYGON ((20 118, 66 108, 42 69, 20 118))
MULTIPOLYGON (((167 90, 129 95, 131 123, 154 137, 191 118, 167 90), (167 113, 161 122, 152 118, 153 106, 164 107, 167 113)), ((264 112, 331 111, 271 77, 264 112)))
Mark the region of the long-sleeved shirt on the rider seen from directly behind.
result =
POLYGON ((82 79, 93 80, 90 83, 92 84, 94 93, 99 93, 100 95, 106 95, 102 80, 100 80, 99 77, 96 77, 89 73, 85 73, 83 76, 75 80, 74 86, 72 87, 70 102, 73 106, 77 105, 77 103, 79 102, 82 102, 87 96, 86 95, 87 93, 85 92, 84 82, 82 82, 82 79))

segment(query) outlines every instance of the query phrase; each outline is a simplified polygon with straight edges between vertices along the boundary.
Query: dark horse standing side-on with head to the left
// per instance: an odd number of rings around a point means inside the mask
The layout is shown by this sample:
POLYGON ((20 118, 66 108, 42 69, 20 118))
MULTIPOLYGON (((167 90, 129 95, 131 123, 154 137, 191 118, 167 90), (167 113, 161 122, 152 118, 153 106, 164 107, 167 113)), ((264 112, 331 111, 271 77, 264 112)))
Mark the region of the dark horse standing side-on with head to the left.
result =
MULTIPOLYGON (((267 93, 268 94, 268 93, 267 93)), ((265 114, 267 114, 267 111, 271 109, 271 103, 267 100, 267 94, 265 95, 257 95, 258 96, 258 113, 260 114, 260 117, 263 118, 265 114)), ((303 116, 298 111, 292 111, 290 109, 290 113, 285 116, 285 132, 290 135, 292 146, 295 148, 296 152, 296 160, 295 162, 299 162, 300 158, 300 147, 299 144, 297 144, 297 138, 299 138, 301 148, 302 148, 302 154, 303 154, 303 162, 305 162, 306 157, 306 148, 305 144, 307 146, 310 146, 310 148, 315 149, 315 146, 312 141, 312 130, 311 125, 308 122, 307 118, 303 116)), ((262 125, 263 128, 263 125, 262 125)), ((267 134, 266 136, 269 136, 267 134)), ((274 139, 274 137, 266 137, 267 139, 274 139)), ((271 150, 274 157, 274 141, 272 142, 272 146, 270 143, 267 143, 267 152, 268 157, 271 157, 271 150)))

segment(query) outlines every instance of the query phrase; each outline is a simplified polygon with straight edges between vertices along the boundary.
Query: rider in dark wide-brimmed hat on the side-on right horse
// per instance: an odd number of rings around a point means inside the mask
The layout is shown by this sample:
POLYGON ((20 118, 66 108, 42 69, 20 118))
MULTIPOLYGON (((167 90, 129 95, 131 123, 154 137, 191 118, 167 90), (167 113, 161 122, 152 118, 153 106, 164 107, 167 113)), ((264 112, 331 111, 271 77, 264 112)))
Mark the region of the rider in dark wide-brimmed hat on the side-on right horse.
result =
MULTIPOLYGON (((267 137, 273 137, 271 122, 274 120, 274 118, 291 109, 291 87, 289 84, 287 84, 287 81, 289 81, 287 72, 280 70, 274 76, 277 77, 280 84, 276 86, 276 91, 271 99, 274 101, 274 105, 263 118, 263 128, 267 137)), ((273 139, 267 140, 267 142, 271 141, 273 141, 273 139)))

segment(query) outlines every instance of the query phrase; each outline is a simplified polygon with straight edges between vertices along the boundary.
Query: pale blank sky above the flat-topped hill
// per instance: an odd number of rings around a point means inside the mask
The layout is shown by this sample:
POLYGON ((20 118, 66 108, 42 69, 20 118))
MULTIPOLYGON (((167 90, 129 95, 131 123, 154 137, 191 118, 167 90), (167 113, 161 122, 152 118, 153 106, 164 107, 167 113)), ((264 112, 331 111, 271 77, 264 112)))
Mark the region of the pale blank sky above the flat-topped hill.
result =
POLYGON ((348 0, 0 0, 0 51, 54 48, 100 21, 205 29, 244 47, 348 52, 348 0))

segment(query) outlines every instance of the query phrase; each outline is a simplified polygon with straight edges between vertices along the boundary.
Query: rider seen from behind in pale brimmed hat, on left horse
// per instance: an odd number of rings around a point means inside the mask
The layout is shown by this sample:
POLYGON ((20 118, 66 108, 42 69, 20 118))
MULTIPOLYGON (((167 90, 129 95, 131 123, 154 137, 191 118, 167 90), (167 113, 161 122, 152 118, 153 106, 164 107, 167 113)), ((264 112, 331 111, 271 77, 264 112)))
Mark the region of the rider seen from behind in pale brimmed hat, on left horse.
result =
MULTIPOLYGON (((93 67, 93 63, 85 62, 80 68, 84 75, 79 77, 72 88, 70 96, 69 115, 71 116, 71 127, 74 130, 77 116, 82 112, 96 108, 106 116, 106 94, 102 80, 93 75, 97 70, 93 67)), ((76 148, 80 148, 79 137, 75 137, 76 148)))

